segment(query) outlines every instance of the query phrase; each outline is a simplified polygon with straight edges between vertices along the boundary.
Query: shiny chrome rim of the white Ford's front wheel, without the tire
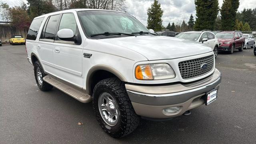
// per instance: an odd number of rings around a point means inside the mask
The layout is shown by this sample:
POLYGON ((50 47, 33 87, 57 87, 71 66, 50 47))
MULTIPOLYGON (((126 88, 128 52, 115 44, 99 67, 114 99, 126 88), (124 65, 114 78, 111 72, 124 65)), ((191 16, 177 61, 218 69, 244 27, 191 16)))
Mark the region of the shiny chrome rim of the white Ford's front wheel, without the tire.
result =
POLYGON ((100 115, 109 126, 115 126, 119 119, 119 108, 113 96, 104 92, 98 100, 100 115))

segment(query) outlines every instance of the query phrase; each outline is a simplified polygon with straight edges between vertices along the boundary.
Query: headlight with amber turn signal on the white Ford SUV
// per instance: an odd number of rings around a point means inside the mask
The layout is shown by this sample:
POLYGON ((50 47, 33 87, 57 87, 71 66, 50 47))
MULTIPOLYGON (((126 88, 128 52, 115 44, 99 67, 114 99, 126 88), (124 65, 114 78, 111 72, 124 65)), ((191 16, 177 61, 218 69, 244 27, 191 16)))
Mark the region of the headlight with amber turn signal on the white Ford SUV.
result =
POLYGON ((135 68, 135 77, 138 80, 165 80, 175 78, 175 72, 171 66, 162 64, 141 64, 135 68))

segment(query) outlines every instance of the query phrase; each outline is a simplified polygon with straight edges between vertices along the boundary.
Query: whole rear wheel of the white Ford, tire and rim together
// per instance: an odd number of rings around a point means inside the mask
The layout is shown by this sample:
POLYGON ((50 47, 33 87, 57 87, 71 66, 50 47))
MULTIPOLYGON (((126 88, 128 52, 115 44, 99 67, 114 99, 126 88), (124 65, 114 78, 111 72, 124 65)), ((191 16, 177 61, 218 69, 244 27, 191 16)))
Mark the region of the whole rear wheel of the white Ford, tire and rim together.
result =
POLYGON ((46 76, 46 74, 44 73, 44 70, 43 70, 40 62, 38 62, 38 61, 36 61, 34 63, 34 74, 35 74, 35 78, 36 78, 36 84, 40 90, 49 91, 52 89, 53 86, 43 80, 43 78, 44 78, 44 76, 46 76))

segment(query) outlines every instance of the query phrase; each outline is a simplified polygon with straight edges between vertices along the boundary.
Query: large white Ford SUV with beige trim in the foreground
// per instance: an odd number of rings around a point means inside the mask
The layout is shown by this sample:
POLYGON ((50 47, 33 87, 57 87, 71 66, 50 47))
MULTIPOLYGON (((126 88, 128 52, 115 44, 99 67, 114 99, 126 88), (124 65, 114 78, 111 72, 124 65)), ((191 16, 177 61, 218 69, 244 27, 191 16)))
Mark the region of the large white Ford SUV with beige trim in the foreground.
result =
POLYGON ((221 74, 208 46, 157 36, 133 16, 72 9, 34 18, 26 40, 38 88, 93 102, 112 137, 140 118, 166 120, 217 98, 221 74))

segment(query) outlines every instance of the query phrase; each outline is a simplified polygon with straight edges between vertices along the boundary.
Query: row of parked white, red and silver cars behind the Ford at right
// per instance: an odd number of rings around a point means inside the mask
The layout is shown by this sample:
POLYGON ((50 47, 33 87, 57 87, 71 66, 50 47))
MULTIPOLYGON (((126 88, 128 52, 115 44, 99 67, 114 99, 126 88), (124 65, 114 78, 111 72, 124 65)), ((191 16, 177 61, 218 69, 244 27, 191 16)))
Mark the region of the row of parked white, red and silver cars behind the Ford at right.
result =
POLYGON ((225 51, 233 54, 234 50, 242 52, 247 48, 255 47, 255 38, 253 34, 242 34, 240 31, 188 31, 175 36, 186 40, 201 42, 212 48, 215 58, 218 52, 225 51))

